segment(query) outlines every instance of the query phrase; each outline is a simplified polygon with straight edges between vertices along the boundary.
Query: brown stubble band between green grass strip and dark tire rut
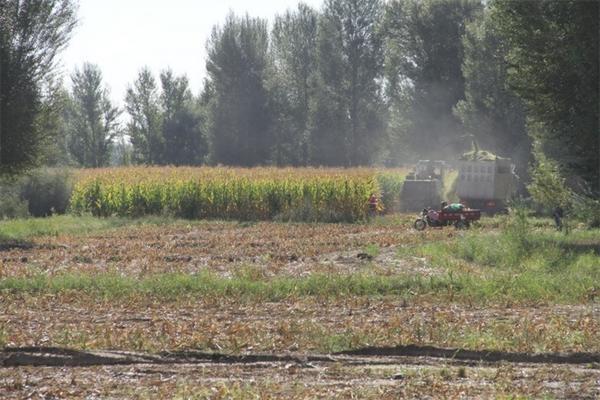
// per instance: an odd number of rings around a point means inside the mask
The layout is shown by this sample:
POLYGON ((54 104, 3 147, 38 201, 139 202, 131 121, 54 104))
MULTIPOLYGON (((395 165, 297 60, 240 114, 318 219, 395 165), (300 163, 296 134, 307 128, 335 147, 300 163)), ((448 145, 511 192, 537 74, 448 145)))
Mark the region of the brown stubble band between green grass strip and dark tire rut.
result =
POLYGON ((336 352, 434 345, 513 352, 600 352, 594 305, 469 307, 425 299, 98 299, 80 294, 8 297, 3 342, 13 347, 238 353, 336 352))

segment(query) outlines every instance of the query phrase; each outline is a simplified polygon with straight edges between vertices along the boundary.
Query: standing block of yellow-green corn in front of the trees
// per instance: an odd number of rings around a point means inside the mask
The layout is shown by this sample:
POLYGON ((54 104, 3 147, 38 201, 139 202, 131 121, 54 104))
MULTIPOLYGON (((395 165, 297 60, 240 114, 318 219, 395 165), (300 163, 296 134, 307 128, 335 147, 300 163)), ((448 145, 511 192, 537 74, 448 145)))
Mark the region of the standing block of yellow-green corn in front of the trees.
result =
MULTIPOLYGON (((380 176, 396 185, 404 175, 380 176)), ((374 169, 81 170, 70 207, 73 213, 96 216, 354 222, 368 218, 368 199, 372 193, 381 196, 381 186, 374 169)))

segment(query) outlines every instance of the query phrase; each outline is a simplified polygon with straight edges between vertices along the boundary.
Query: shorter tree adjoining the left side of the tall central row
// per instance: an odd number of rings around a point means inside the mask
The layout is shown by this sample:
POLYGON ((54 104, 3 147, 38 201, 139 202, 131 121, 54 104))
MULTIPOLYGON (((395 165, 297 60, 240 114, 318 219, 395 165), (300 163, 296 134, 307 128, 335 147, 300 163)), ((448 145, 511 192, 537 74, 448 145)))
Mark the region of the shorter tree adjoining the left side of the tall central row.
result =
POLYGON ((174 76, 170 70, 160 75, 162 93, 163 160, 172 165, 199 165, 207 154, 202 132, 204 120, 185 76, 174 76))

